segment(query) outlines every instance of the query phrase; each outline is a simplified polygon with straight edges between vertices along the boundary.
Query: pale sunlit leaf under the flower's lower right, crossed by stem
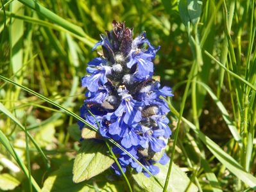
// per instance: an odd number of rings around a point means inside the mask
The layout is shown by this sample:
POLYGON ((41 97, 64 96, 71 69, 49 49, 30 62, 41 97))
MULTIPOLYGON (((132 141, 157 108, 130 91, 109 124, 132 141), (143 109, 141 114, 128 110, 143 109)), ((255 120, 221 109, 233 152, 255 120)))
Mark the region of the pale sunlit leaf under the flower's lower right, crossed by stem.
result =
MULTIPOLYGON (((160 183, 164 184, 169 164, 157 164, 157 166, 160 168, 160 173, 155 176, 160 180, 160 183)), ((132 177, 143 191, 162 191, 162 188, 152 177, 146 177, 143 173, 137 173, 132 177)), ((198 191, 198 188, 189 180, 187 175, 176 164, 173 164, 167 191, 186 191, 186 189, 187 191, 198 191)))

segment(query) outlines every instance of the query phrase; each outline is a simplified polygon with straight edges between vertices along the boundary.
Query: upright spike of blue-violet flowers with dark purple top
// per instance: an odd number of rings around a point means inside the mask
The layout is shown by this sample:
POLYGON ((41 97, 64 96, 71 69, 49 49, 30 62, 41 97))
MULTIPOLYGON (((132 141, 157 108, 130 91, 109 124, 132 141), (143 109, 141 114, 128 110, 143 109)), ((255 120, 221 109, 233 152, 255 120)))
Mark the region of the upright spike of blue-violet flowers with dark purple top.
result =
MULTIPOLYGON (((81 117, 98 127, 101 136, 117 141, 157 174, 159 169, 154 164, 169 161, 164 148, 171 136, 166 117, 169 108, 160 96, 173 94, 171 88, 160 88, 160 83, 152 78, 152 60, 160 47, 153 47, 145 32, 133 40, 132 32, 124 22, 113 21, 112 31, 101 35, 93 47, 92 50, 101 45, 103 55, 88 63, 89 75, 81 79, 88 90, 81 117)), ((83 129, 81 122, 80 127, 83 129)), ((114 152, 124 172, 128 165, 144 172, 125 152, 117 147, 114 152)), ((120 174, 117 164, 112 168, 120 174)))

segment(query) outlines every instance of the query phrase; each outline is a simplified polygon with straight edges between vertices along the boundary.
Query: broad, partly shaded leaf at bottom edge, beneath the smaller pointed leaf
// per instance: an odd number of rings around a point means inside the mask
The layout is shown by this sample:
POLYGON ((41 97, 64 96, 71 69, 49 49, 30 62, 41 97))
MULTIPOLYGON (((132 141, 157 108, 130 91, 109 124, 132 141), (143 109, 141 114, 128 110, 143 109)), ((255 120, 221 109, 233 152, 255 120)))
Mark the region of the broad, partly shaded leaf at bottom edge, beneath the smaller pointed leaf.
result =
POLYGON ((44 182, 42 192, 47 191, 68 191, 68 192, 79 192, 79 191, 112 191, 117 192, 122 188, 123 183, 119 182, 108 182, 105 175, 98 175, 90 180, 74 183, 72 180, 72 168, 73 161, 64 164, 59 170, 51 173, 44 182), (96 190, 96 188, 98 190, 96 190), (99 190, 100 189, 100 190, 99 190))

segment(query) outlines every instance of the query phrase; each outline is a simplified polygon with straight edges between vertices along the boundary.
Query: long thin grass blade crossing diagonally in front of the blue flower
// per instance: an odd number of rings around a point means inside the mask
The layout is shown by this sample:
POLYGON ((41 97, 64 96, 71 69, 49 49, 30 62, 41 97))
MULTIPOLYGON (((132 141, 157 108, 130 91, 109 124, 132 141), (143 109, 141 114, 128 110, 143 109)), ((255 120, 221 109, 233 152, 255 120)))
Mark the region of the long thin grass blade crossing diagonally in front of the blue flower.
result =
MULTIPOLYGON (((33 95, 36 95, 38 98, 45 100, 46 102, 49 102, 50 104, 52 104, 53 106, 56 106, 59 109, 62 109, 65 113, 67 113, 68 115, 73 116, 74 118, 76 118, 76 120, 80 120, 81 122, 83 122, 85 125, 87 125, 87 127, 89 127, 90 129, 92 129, 93 131, 98 132, 98 129, 96 127, 94 127, 93 125, 89 124, 89 122, 87 122, 86 120, 84 120, 83 118, 81 118, 81 116, 76 115, 76 113, 74 113, 73 111, 69 111, 68 109, 64 108, 63 106, 61 106, 60 104, 57 104, 56 102, 54 102, 51 99, 48 99, 47 97, 44 97, 44 95, 41 95, 33 90, 31 90, 30 88, 27 88, 26 86, 23 86, 19 83, 15 83, 14 81, 1 76, 0 75, 0 79, 7 81, 8 83, 11 83, 15 86, 19 86, 21 87, 23 90, 25 90, 26 92, 30 92, 33 95)), ((105 140, 106 142, 110 141, 111 143, 113 143, 116 147, 120 148, 121 150, 123 150, 123 152, 125 152, 128 156, 130 156, 134 161, 136 161, 136 163, 138 163, 140 166, 142 166, 142 168, 151 176, 153 177, 157 183, 163 188, 162 184, 160 183, 160 181, 154 176, 152 175, 151 172, 149 172, 149 170, 143 165, 141 164, 141 162, 139 162, 135 157, 133 157, 126 149, 124 149, 121 145, 119 145, 119 143, 117 143, 116 141, 112 140, 112 139, 108 139, 105 140)))

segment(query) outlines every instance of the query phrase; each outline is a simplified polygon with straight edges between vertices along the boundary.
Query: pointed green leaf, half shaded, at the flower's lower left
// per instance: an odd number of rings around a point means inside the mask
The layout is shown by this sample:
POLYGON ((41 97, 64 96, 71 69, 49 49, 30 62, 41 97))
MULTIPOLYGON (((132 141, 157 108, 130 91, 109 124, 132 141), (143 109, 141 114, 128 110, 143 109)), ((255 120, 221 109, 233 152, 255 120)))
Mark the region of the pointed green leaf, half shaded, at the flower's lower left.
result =
POLYGON ((77 183, 88 180, 107 170, 114 163, 114 159, 107 156, 106 151, 107 147, 104 143, 83 141, 74 159, 73 181, 77 183))

